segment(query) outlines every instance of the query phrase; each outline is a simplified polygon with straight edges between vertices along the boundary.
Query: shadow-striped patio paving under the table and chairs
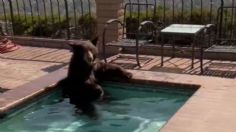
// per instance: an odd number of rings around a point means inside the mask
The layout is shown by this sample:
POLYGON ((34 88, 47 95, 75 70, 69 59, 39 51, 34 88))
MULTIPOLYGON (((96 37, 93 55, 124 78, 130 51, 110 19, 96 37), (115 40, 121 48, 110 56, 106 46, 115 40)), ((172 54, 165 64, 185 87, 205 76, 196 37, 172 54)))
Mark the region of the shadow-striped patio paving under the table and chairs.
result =
POLYGON ((157 72, 168 72, 178 74, 191 74, 191 75, 204 75, 204 76, 216 76, 224 78, 236 77, 236 62, 233 61, 211 61, 204 60, 204 72, 200 73, 200 61, 195 59, 194 68, 191 69, 191 59, 188 58, 164 58, 164 66, 161 67, 160 56, 140 56, 140 62, 143 67, 138 67, 136 64, 135 56, 129 54, 120 54, 119 56, 113 56, 110 58, 110 62, 118 64, 126 69, 136 70, 149 70, 157 72))

